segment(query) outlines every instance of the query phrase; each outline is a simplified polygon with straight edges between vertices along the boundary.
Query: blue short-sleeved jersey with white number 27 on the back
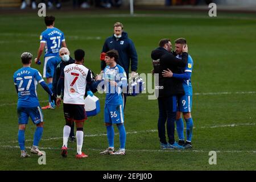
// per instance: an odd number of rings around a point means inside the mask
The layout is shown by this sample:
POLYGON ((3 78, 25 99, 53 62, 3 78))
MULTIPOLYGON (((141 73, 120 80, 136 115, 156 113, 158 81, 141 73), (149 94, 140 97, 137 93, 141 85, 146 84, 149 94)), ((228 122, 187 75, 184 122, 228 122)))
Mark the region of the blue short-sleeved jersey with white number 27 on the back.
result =
POLYGON ((18 86, 18 107, 39 106, 36 86, 44 81, 37 69, 20 68, 14 73, 14 85, 18 86))

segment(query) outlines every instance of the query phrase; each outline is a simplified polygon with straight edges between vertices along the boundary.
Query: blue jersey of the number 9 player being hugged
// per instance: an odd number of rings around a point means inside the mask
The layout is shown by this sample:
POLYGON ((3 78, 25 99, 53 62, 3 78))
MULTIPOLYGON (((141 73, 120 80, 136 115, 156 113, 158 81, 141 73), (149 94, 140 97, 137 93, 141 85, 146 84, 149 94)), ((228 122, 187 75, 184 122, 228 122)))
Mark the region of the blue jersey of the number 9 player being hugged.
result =
MULTIPOLYGON (((177 55, 177 58, 181 59, 181 55, 177 55)), ((191 72, 193 69, 193 60, 190 55, 188 55, 188 64, 184 68, 180 68, 181 73, 191 72)), ((192 84, 191 84, 191 77, 188 80, 183 80, 182 82, 185 94, 187 96, 192 96, 192 84)))

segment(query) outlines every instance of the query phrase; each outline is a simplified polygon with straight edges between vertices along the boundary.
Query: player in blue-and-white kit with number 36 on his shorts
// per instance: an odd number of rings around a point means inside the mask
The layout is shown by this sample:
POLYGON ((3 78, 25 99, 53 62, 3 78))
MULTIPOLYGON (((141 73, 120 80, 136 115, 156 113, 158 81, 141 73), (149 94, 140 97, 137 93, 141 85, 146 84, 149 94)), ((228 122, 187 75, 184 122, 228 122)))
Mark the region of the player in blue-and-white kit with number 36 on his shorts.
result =
MULTIPOLYGON (((102 76, 106 93, 104 121, 107 130, 109 147, 100 154, 125 155, 126 131, 123 116, 122 90, 127 90, 127 77, 125 69, 117 64, 118 52, 110 50, 106 52, 106 67, 102 76), (119 131, 120 147, 114 151, 114 127, 119 131)), ((98 79, 98 78, 97 78, 98 79)))

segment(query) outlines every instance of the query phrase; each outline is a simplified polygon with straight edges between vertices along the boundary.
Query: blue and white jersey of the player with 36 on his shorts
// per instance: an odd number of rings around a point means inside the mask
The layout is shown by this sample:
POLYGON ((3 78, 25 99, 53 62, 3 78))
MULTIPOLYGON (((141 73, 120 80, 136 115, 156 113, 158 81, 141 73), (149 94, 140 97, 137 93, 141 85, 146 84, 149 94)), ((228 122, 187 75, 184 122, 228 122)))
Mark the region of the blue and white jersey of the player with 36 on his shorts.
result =
POLYGON ((120 65, 116 65, 114 68, 106 66, 104 69, 104 75, 102 79, 105 81, 105 104, 109 105, 122 105, 122 89, 119 86, 110 86, 110 81, 119 82, 124 79, 127 80, 125 69, 120 65))

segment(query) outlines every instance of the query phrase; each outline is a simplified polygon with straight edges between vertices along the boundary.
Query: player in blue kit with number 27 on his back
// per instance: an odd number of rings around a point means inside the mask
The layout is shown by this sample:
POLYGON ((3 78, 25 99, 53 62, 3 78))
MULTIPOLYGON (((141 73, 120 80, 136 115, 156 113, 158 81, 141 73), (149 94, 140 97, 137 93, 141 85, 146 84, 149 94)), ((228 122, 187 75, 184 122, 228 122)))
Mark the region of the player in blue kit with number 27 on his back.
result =
POLYGON ((34 142, 31 147, 32 154, 43 155, 38 148, 39 141, 43 134, 43 113, 39 105, 38 97, 36 94, 36 86, 38 83, 43 86, 44 90, 51 96, 51 100, 55 97, 51 89, 44 82, 42 75, 38 70, 30 67, 32 63, 32 54, 24 52, 21 55, 23 68, 20 68, 14 73, 14 85, 18 93, 18 142, 21 151, 20 158, 30 157, 25 150, 25 129, 28 123, 28 117, 36 125, 34 134, 34 142))

